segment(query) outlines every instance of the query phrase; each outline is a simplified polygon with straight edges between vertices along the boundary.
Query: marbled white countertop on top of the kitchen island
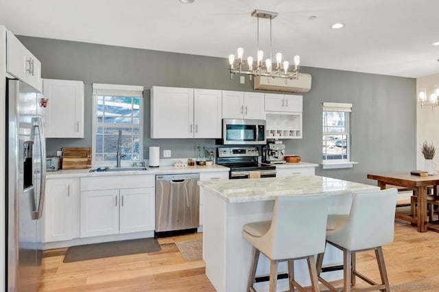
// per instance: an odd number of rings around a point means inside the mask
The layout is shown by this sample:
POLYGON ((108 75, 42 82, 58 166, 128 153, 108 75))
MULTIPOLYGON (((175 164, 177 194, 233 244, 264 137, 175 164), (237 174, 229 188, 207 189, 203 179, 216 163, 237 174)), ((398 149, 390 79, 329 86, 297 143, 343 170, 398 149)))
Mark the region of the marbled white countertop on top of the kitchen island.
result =
POLYGON ((275 199, 278 195, 311 195, 316 193, 342 195, 364 191, 379 191, 378 186, 318 175, 254 178, 250 180, 216 180, 198 182, 198 185, 230 203, 266 201, 275 199))

